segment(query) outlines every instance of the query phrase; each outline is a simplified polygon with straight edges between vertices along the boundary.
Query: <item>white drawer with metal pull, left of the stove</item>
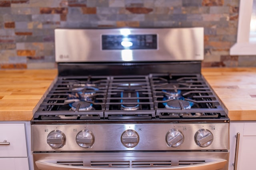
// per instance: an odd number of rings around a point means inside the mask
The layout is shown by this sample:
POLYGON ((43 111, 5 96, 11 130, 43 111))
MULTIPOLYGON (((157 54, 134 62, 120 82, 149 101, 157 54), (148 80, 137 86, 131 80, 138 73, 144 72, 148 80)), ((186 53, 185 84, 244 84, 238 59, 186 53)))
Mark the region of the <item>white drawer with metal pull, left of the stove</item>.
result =
POLYGON ((0 123, 0 157, 27 157, 24 123, 0 123))

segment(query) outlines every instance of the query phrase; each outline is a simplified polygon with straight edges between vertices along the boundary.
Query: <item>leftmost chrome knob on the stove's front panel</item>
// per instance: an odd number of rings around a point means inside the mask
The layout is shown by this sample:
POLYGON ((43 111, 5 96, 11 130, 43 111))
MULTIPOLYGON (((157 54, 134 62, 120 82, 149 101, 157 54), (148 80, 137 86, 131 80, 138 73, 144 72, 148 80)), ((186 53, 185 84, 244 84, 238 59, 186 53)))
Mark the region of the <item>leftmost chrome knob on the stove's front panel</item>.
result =
POLYGON ((62 131, 51 131, 47 136, 47 143, 54 149, 61 148, 65 145, 66 137, 62 131))

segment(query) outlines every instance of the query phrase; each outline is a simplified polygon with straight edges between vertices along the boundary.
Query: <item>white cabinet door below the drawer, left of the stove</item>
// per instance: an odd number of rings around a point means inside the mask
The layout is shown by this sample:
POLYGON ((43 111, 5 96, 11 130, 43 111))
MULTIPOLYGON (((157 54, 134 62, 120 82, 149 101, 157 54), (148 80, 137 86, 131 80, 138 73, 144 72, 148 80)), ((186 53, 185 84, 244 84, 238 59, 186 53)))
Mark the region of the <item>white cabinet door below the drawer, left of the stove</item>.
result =
POLYGON ((28 158, 0 158, 1 170, 29 170, 28 158))

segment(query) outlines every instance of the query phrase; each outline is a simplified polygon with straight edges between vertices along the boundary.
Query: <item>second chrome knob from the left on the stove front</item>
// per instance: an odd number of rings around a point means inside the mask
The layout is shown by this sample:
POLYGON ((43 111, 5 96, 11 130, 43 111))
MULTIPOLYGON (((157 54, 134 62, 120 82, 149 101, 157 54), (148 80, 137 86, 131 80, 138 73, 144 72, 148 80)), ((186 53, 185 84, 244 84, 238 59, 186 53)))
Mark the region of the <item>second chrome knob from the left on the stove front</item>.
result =
POLYGON ((82 148, 91 147, 94 143, 94 135, 89 130, 82 130, 76 135, 76 143, 82 148))

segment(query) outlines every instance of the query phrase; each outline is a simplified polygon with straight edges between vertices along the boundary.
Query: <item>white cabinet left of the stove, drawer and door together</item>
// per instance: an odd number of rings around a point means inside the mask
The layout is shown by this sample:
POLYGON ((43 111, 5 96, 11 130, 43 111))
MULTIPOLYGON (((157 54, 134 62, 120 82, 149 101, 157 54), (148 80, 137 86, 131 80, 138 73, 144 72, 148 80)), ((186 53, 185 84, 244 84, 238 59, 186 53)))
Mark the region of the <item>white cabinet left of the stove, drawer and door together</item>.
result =
POLYGON ((0 123, 0 169, 29 170, 25 123, 0 123))

